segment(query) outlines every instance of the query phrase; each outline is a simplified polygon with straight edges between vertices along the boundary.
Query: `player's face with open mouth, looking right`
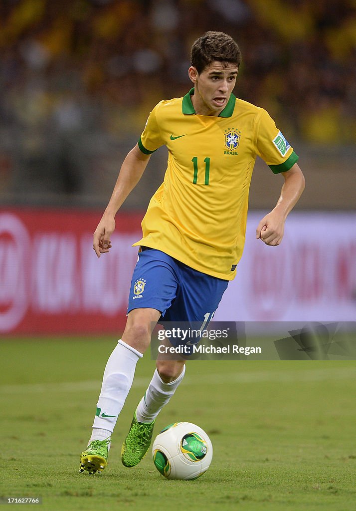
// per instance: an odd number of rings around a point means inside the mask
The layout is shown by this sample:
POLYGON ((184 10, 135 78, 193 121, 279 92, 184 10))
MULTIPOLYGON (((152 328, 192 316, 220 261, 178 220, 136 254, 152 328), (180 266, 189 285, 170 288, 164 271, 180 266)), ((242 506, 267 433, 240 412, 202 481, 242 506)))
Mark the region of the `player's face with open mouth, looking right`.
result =
POLYGON ((230 99, 239 69, 235 64, 215 60, 199 74, 189 67, 189 78, 195 86, 192 103, 196 113, 219 115, 230 99))

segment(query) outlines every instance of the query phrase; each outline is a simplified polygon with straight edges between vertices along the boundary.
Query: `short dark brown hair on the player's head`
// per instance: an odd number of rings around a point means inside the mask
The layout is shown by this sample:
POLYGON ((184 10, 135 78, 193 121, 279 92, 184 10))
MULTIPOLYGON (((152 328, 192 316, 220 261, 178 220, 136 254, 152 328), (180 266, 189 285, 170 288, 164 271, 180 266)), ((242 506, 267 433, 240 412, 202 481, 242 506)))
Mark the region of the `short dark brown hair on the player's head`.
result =
POLYGON ((238 44, 224 32, 206 32, 192 46, 191 62, 200 74, 211 62, 229 62, 241 64, 241 52, 238 44))

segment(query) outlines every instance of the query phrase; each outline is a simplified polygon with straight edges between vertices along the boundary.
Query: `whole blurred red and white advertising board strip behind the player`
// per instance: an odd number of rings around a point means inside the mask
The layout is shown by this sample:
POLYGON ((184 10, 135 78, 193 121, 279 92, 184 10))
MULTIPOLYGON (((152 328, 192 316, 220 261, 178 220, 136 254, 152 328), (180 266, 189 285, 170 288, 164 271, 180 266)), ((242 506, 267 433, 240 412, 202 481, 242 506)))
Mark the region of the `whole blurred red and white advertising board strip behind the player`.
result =
MULTIPOLYGON (((283 242, 256 240, 251 212, 238 273, 216 320, 354 321, 356 214, 298 213, 283 242)), ((120 213, 100 259, 92 233, 101 212, 0 210, 0 335, 120 333, 143 214, 120 213)))

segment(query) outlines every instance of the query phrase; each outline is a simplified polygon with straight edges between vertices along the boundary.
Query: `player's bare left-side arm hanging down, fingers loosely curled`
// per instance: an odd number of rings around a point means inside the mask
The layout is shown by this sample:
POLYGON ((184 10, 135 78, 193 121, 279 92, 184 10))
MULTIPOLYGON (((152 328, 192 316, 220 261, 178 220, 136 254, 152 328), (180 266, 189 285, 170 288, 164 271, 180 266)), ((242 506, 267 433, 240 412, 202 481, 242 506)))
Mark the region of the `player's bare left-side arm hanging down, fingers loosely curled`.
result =
POLYGON ((93 249, 98 257, 111 248, 110 236, 115 229, 115 215, 142 177, 149 159, 150 155, 141 152, 137 144, 124 159, 109 203, 94 232, 93 249))

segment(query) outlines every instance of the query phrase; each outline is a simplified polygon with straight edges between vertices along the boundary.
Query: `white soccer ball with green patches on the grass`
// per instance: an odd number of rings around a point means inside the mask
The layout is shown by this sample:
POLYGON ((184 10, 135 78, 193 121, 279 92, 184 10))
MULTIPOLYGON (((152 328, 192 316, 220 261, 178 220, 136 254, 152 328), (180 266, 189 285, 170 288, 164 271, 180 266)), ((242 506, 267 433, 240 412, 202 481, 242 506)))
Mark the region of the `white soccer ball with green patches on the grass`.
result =
POLYGON ((190 422, 162 429, 152 447, 153 462, 167 479, 197 479, 212 460, 212 444, 205 431, 190 422))

